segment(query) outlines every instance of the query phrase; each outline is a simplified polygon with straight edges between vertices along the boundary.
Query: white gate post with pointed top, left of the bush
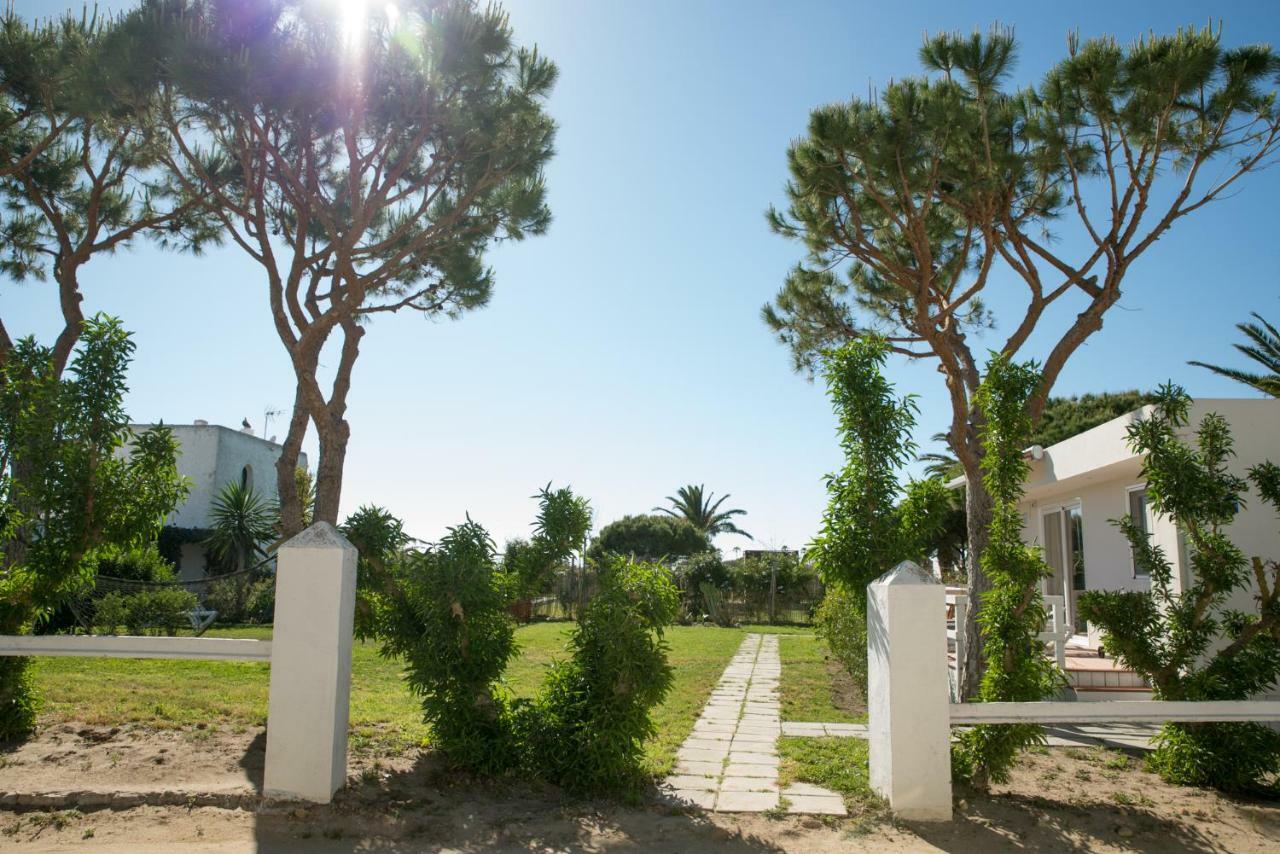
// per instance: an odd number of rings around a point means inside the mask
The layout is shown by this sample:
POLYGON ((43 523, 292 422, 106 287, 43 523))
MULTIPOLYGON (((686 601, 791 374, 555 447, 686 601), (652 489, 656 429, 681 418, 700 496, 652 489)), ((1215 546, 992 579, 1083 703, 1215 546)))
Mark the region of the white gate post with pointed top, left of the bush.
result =
POLYGON ((316 522, 276 556, 262 794, 326 804, 347 782, 356 548, 316 522))

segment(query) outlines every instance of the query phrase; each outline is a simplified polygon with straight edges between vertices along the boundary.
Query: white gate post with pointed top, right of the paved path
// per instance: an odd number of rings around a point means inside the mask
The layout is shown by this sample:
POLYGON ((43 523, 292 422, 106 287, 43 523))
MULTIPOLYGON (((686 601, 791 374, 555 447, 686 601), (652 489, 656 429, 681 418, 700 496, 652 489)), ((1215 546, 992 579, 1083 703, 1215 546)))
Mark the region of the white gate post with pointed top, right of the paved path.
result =
POLYGON ((867 585, 870 784, 909 821, 951 819, 946 588, 910 561, 867 585))

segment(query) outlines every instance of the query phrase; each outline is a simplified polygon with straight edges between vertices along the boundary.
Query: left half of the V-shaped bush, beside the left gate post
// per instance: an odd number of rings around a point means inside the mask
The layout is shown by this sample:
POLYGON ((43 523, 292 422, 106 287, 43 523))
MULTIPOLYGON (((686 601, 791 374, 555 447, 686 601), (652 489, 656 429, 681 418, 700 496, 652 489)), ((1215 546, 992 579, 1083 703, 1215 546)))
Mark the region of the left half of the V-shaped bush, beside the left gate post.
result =
POLYGON ((375 630, 383 654, 404 661, 435 744, 463 768, 516 767, 509 703, 499 685, 516 652, 511 584, 489 534, 467 520, 393 568, 399 595, 379 603, 375 630))

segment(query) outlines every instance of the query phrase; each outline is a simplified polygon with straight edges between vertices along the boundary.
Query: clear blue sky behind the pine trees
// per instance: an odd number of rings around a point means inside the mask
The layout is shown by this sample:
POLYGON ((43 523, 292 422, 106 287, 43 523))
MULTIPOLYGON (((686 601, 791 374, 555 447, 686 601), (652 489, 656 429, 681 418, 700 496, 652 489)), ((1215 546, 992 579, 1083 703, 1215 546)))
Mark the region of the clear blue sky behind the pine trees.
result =
MULTIPOLYGON (((15 5, 45 15, 69 4, 15 5)), ((493 254, 485 310, 379 319, 351 394, 344 508, 387 506, 426 539, 467 512, 499 542, 527 534, 529 497, 547 481, 572 484, 600 521, 705 483, 732 493, 758 542, 804 545, 826 503, 822 475, 840 462, 833 419, 759 309, 799 259, 763 214, 781 201, 785 151, 809 110, 916 73, 925 31, 1012 24, 1024 82, 1064 55, 1071 28, 1128 41, 1212 17, 1228 44, 1280 40, 1280 17, 1256 1, 506 5, 518 38, 561 68, 550 233, 493 254)), ((1243 396, 1185 361, 1231 362, 1233 324, 1251 310, 1280 318, 1277 195, 1280 169, 1254 175, 1160 241, 1056 392, 1171 378, 1199 397, 1243 396)), ((262 275, 230 246, 192 259, 140 245, 96 260, 83 286, 90 310, 136 333, 136 420, 261 428, 264 410, 292 401, 262 275)), ((997 321, 1006 296, 997 288, 997 321)), ((58 324, 40 283, 0 283, 0 311, 20 334, 58 324)), ((1047 341, 1025 355, 1043 357, 1047 341)), ((920 396, 919 438, 943 429, 932 365, 893 362, 891 376, 920 396)), ((283 426, 276 417, 270 433, 283 426)))

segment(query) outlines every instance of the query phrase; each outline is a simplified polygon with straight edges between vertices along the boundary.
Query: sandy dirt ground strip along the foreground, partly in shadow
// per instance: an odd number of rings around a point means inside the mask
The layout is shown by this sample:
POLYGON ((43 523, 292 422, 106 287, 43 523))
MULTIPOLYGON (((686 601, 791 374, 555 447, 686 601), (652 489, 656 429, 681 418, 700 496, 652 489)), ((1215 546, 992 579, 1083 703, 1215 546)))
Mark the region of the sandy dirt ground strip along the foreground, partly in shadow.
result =
MULTIPOLYGON (((264 734, 59 726, 0 754, 8 793, 244 793, 261 782, 264 734)), ((353 755, 326 807, 0 809, 4 851, 658 850, 1280 850, 1280 804, 1178 789, 1123 754, 1027 754, 1007 786, 957 793, 950 825, 705 814, 657 802, 572 800, 524 784, 477 782, 430 754, 353 755)), ((246 802, 252 798, 246 799, 246 802)))

